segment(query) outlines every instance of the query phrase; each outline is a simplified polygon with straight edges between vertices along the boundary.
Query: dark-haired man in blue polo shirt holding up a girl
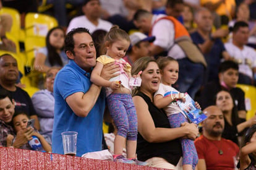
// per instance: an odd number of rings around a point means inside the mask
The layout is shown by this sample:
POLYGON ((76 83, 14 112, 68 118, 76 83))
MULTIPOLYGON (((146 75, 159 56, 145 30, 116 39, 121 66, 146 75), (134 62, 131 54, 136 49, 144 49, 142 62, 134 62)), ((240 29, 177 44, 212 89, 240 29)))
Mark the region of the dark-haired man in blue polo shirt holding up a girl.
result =
MULTIPOLYGON (((70 61, 56 75, 54 81, 53 153, 64 154, 61 133, 78 132, 77 155, 101 150, 105 93, 90 82, 92 67, 96 64, 96 51, 86 28, 71 30, 64 45, 70 61)), ((118 68, 111 67, 109 75, 118 68)), ((116 70, 117 69, 117 70, 116 70)), ((115 75, 113 75, 115 76, 115 75)))

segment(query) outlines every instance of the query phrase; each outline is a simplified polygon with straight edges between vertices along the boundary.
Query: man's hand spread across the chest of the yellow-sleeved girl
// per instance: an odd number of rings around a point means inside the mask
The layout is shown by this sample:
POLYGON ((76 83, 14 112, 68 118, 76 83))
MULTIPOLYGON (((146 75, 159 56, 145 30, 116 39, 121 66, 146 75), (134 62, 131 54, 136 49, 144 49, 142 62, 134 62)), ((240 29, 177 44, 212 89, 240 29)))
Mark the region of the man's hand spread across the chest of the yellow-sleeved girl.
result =
POLYGON ((118 73, 119 71, 120 71, 119 65, 114 64, 114 62, 110 62, 103 67, 103 69, 101 70, 100 76, 103 77, 103 79, 105 80, 109 80, 119 75, 118 73))

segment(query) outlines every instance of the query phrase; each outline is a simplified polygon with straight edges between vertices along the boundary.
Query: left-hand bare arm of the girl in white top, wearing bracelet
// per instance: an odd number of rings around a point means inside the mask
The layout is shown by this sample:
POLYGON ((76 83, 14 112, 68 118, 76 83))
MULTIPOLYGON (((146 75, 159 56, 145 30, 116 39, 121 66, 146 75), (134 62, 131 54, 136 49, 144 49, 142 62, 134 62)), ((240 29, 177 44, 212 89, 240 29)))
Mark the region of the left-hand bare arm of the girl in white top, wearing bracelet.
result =
POLYGON ((177 94, 173 94, 173 95, 169 95, 164 97, 163 95, 156 95, 154 97, 154 104, 156 107, 158 108, 164 108, 166 106, 168 106, 168 104, 170 104, 172 101, 176 101, 176 100, 184 100, 184 94, 181 95, 182 93, 177 93, 177 94))

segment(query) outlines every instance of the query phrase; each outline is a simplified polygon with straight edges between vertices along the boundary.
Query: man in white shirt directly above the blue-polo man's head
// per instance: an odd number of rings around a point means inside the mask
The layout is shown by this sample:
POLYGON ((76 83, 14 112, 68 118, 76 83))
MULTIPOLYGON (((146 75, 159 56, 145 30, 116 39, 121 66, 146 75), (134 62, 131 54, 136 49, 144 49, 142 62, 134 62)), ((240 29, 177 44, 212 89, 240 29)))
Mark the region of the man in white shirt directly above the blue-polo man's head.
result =
POLYGON ((109 31, 112 24, 106 20, 100 19, 101 6, 99 0, 86 0, 82 5, 82 12, 84 15, 75 17, 69 23, 67 27, 67 33, 72 30, 72 28, 85 27, 88 28, 90 33, 95 30, 102 29, 109 31))

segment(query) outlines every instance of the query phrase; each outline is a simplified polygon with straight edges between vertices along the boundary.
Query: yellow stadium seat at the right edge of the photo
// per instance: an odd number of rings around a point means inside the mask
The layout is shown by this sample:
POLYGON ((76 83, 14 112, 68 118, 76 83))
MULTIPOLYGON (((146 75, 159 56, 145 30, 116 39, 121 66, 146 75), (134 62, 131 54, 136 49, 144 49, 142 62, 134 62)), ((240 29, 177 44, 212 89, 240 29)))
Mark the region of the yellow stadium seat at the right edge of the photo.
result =
POLYGON ((245 93, 245 109, 247 110, 246 119, 250 119, 256 113, 256 87, 252 85, 238 84, 245 93))

